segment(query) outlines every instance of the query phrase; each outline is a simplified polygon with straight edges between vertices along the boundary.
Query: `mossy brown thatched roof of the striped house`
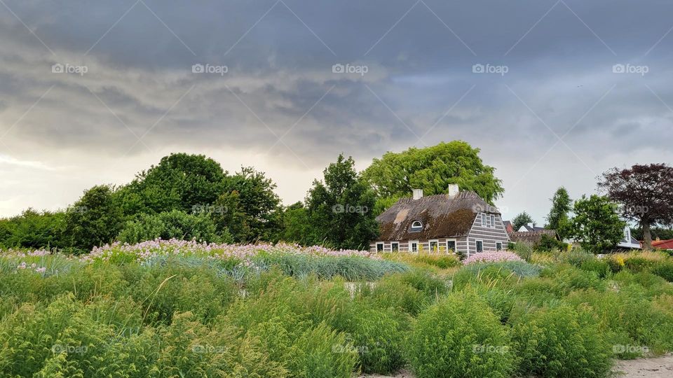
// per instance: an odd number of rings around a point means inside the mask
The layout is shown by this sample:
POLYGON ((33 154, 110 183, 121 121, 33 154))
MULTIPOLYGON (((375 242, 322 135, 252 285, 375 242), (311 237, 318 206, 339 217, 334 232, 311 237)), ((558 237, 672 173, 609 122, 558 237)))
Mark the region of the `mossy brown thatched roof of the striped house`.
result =
POLYGON ((463 191, 449 195, 430 195, 419 200, 402 198, 376 217, 381 225, 379 240, 436 239, 465 237, 480 211, 500 214, 477 193, 463 191), (412 231, 412 223, 421 221, 423 228, 412 231))

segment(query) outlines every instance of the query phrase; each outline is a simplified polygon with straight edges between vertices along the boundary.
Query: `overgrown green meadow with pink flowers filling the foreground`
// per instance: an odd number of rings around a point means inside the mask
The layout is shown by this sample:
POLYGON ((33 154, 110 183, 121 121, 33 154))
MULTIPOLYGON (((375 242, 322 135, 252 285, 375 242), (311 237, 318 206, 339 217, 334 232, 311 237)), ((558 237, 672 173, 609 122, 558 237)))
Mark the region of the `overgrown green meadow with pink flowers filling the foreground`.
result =
POLYGON ((673 258, 155 240, 0 253, 4 377, 607 377, 673 349, 673 258))

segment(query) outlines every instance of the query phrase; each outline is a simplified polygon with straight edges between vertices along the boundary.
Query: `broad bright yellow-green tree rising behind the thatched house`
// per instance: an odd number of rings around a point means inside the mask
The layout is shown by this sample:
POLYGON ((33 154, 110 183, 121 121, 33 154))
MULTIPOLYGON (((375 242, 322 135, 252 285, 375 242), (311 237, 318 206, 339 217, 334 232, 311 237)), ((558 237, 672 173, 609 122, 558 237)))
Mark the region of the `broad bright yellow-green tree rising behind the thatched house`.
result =
POLYGON ((479 148, 465 141, 388 152, 374 159, 362 172, 362 179, 382 198, 408 197, 415 188, 423 189, 426 195, 447 193, 449 184, 454 183, 493 204, 505 190, 494 175, 495 168, 484 165, 479 153, 479 148))

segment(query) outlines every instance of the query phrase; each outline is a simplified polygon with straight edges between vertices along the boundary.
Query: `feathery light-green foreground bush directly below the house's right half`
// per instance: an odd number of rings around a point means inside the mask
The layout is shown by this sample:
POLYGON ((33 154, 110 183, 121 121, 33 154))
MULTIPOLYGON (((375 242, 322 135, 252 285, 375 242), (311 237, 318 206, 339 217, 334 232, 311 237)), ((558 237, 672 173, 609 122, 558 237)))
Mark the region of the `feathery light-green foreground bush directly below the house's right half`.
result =
POLYGON ((510 377, 507 328, 480 297, 455 293, 423 311, 409 337, 416 377, 510 377))

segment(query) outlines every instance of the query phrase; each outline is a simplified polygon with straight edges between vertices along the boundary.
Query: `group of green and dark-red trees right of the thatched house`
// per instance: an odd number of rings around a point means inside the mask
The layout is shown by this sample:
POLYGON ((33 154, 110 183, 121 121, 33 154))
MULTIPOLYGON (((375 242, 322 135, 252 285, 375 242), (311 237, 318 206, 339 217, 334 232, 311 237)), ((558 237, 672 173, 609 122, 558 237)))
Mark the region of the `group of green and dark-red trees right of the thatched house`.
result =
MULTIPOLYGON (((574 239, 587 251, 610 251, 624 238, 624 228, 652 248, 652 235, 673 239, 673 167, 665 164, 633 165, 604 172, 597 183, 599 194, 571 200, 568 190, 558 188, 545 228, 562 239, 574 239), (571 216, 574 214, 574 216, 571 216)), ((533 218, 525 211, 512 220, 518 230, 533 218)))

